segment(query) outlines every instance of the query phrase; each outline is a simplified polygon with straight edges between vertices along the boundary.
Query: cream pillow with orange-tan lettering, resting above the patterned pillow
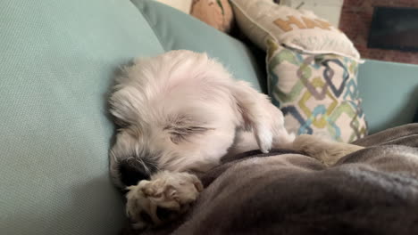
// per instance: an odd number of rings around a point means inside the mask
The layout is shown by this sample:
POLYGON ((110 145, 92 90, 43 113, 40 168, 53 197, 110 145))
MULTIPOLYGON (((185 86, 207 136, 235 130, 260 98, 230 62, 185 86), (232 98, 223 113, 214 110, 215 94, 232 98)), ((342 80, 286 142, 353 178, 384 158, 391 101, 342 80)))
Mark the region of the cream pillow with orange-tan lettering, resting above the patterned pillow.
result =
POLYGON ((230 0, 238 26, 266 50, 267 39, 303 53, 333 53, 360 61, 353 43, 338 28, 314 12, 302 11, 271 0, 230 0))

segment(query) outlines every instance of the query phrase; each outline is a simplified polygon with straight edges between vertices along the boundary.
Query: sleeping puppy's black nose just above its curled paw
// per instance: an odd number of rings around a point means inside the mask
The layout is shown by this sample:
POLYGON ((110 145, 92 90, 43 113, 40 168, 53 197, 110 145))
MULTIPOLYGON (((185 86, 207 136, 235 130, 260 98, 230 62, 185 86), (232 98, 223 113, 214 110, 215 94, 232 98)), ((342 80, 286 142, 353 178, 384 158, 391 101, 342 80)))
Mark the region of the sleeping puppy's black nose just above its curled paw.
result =
POLYGON ((142 180, 149 180, 151 174, 156 172, 155 164, 149 160, 138 158, 125 158, 119 163, 121 182, 125 186, 136 185, 142 180))

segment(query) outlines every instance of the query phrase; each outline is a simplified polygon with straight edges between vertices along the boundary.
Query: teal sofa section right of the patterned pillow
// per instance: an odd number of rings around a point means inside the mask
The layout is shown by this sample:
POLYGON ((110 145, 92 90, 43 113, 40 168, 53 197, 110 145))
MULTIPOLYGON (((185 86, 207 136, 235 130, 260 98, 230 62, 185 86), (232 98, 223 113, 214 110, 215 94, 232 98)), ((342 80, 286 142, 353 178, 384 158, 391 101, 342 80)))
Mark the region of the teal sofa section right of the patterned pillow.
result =
POLYGON ((367 60, 358 88, 370 134, 411 123, 418 108, 418 65, 367 60))

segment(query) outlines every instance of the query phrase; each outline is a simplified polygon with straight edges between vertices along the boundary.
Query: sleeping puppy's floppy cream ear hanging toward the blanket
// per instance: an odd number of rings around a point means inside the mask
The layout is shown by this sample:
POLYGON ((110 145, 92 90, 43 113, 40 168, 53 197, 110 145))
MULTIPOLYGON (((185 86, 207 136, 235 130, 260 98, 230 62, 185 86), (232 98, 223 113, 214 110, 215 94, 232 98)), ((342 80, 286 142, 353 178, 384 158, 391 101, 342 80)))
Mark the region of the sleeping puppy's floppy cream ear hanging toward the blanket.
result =
POLYGON ((267 95, 257 92, 244 81, 237 81, 230 88, 237 102, 238 115, 242 116, 243 126, 252 130, 258 147, 264 153, 272 149, 273 142, 290 139, 284 128, 284 118, 267 95))

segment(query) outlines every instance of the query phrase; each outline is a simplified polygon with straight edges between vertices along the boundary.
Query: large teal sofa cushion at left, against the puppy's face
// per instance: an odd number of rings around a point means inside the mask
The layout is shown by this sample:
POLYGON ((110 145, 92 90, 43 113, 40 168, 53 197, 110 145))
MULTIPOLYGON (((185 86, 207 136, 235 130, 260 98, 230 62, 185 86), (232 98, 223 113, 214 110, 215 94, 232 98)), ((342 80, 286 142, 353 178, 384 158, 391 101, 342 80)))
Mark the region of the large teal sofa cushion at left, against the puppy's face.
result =
POLYGON ((0 234, 116 234, 113 71, 163 53, 129 1, 0 3, 0 234))

